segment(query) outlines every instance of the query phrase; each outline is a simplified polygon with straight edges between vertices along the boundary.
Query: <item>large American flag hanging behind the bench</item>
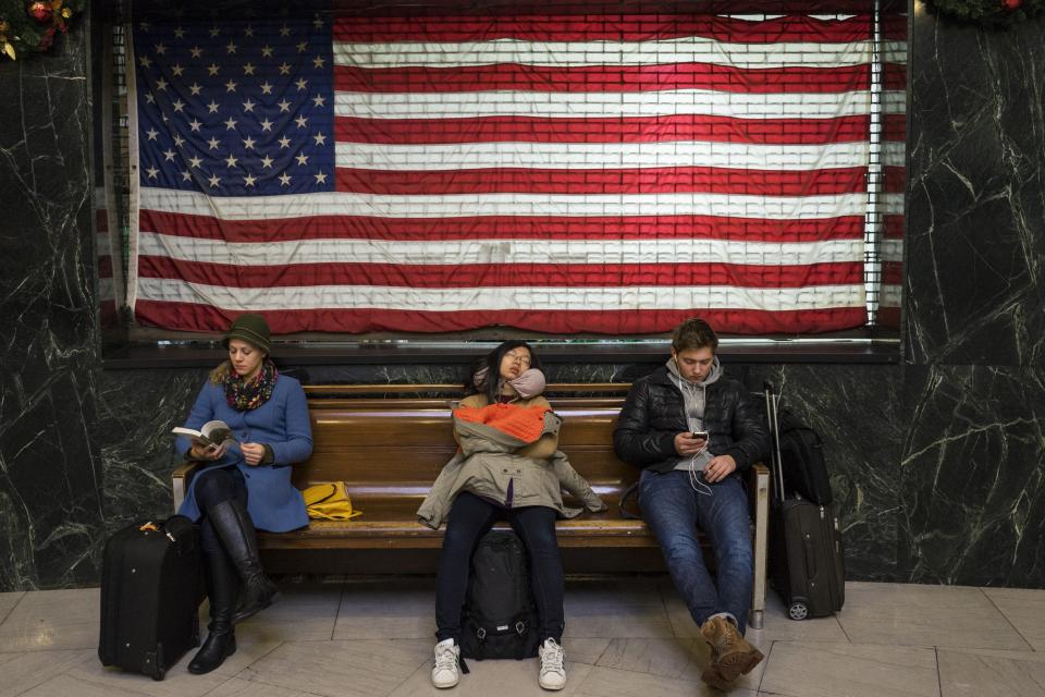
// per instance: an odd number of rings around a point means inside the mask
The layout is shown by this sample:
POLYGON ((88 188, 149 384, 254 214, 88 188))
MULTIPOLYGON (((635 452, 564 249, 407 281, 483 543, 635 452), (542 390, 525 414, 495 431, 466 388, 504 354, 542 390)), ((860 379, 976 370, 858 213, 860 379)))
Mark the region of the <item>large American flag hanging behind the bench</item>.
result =
POLYGON ((140 22, 130 302, 196 331, 861 326, 872 35, 865 15, 140 22))

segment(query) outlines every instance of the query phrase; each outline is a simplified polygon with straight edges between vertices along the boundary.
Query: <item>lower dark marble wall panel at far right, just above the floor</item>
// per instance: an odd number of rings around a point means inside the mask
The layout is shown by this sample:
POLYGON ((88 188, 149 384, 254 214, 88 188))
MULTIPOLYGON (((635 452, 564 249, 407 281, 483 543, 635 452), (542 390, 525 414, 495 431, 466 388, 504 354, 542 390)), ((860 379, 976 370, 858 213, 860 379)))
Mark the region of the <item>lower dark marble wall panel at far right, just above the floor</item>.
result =
POLYGON ((908 366, 903 391, 906 577, 1045 585, 1045 369, 908 366))

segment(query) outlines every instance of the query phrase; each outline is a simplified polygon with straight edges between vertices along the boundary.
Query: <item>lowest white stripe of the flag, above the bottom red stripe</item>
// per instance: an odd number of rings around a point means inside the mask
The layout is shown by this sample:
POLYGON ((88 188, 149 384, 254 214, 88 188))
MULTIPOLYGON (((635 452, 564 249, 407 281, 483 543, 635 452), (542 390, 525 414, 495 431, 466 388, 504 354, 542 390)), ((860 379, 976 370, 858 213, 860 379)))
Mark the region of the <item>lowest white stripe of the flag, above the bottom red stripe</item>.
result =
POLYGON ((755 289, 729 285, 627 288, 410 289, 371 285, 244 289, 143 278, 138 298, 211 305, 229 310, 404 309, 429 311, 766 309, 863 307, 863 285, 755 289))

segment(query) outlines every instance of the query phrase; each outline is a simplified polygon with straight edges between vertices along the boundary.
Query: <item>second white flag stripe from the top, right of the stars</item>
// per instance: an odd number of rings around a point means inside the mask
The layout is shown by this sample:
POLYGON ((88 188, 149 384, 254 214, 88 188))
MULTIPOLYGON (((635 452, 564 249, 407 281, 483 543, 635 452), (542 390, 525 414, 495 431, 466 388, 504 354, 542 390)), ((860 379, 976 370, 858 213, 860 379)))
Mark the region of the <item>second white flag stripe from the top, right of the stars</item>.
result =
MULTIPOLYGON (((902 93, 899 93, 902 95, 902 93)), ((906 99, 906 95, 903 95, 906 99)), ((884 106, 888 105, 886 95, 884 106)), ((906 101, 905 101, 906 103, 906 101)), ((886 106, 886 111, 889 108, 886 106)), ((902 110, 901 110, 902 111, 902 110)), ((871 113, 871 93, 661 91, 337 91, 334 114, 362 119, 476 119, 481 117, 663 117, 702 114, 737 119, 832 119, 871 113)), ((892 113, 892 112, 890 112, 892 113)))

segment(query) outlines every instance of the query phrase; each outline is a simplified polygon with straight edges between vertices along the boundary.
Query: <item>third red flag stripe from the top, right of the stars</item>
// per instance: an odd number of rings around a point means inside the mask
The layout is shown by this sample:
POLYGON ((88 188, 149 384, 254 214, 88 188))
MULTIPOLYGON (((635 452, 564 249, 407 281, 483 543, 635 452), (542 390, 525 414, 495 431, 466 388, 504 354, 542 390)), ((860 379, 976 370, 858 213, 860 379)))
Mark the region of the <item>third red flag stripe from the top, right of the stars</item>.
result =
POLYGON ((716 143, 804 144, 866 140, 868 117, 839 119, 732 119, 672 117, 541 119, 358 119, 336 117, 334 137, 342 143, 716 143))

